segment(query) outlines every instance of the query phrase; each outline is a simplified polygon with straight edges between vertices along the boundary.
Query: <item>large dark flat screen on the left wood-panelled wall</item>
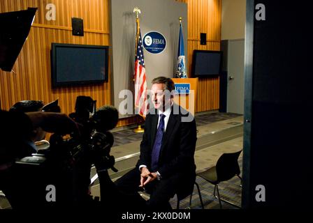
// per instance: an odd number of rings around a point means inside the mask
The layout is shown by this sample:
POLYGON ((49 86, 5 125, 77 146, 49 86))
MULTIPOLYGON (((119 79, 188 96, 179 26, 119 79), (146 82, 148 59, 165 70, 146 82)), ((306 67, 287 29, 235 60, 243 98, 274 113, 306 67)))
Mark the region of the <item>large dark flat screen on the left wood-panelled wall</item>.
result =
POLYGON ((52 43, 52 86, 108 81, 108 46, 52 43))

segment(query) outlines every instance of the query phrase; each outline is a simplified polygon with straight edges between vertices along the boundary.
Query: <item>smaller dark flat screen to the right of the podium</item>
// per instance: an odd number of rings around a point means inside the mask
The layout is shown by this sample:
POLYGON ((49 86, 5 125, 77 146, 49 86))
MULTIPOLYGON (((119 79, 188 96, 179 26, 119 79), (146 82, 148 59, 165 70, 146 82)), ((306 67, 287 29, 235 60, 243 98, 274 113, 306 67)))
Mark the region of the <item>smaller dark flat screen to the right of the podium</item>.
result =
POLYGON ((221 51, 194 50, 192 73, 194 77, 210 77, 221 73, 221 51))

